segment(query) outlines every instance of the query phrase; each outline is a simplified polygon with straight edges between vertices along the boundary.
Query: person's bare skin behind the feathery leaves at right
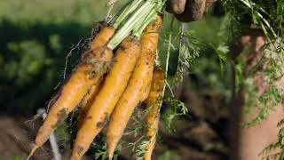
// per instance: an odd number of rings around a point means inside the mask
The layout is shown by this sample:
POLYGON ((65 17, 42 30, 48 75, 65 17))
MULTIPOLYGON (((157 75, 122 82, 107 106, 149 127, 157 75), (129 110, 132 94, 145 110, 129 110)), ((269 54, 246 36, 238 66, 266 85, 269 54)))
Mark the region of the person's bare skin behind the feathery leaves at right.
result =
MULTIPOLYGON (((264 36, 261 32, 251 30, 248 35, 241 37, 241 46, 243 48, 249 48, 249 54, 241 57, 241 60, 246 64, 243 70, 243 76, 246 77, 248 72, 254 68, 261 58, 262 47, 265 44, 264 36)), ((263 69, 267 68, 267 65, 262 66, 263 69)), ((256 96, 259 97, 267 89, 269 85, 264 81, 264 71, 259 69, 256 71, 252 78, 256 87, 256 96)), ((283 95, 283 83, 284 77, 279 78, 275 81, 275 86, 279 89, 280 94, 283 95)), ((264 122, 250 128, 242 128, 241 124, 244 122, 250 122, 258 115, 258 109, 254 108, 252 112, 245 116, 244 114, 244 102, 245 102, 245 92, 246 87, 242 88, 242 92, 236 95, 232 103, 233 121, 232 122, 232 138, 231 143, 233 144, 233 159, 236 160, 260 160, 263 156, 268 156, 279 150, 273 150, 267 155, 259 155, 264 148, 270 145, 272 142, 278 140, 279 128, 277 128, 277 123, 280 122, 284 116, 284 110, 282 108, 283 104, 280 104, 277 108, 272 110, 264 122)))

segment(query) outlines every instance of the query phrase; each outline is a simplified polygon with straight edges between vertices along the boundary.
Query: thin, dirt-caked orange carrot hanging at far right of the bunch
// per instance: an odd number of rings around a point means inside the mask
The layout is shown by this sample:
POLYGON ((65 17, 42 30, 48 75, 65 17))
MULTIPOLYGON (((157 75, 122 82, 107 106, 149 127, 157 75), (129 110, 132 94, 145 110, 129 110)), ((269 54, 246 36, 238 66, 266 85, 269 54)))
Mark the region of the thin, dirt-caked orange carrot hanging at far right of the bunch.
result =
POLYGON ((160 119, 160 106, 159 98, 162 96, 163 87, 165 84, 162 69, 154 68, 153 81, 148 98, 145 100, 146 108, 149 109, 146 115, 146 136, 149 143, 146 146, 145 160, 151 160, 156 141, 156 134, 158 132, 158 125, 160 119))

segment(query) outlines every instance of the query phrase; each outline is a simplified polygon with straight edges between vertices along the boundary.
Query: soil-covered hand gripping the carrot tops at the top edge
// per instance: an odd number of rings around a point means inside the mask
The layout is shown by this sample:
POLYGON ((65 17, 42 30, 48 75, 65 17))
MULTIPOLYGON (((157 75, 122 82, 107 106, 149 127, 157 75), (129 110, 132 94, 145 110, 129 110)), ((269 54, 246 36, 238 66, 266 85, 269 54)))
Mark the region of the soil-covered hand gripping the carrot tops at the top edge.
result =
POLYGON ((177 20, 190 22, 201 20, 204 11, 216 0, 168 0, 167 12, 175 14, 177 20))

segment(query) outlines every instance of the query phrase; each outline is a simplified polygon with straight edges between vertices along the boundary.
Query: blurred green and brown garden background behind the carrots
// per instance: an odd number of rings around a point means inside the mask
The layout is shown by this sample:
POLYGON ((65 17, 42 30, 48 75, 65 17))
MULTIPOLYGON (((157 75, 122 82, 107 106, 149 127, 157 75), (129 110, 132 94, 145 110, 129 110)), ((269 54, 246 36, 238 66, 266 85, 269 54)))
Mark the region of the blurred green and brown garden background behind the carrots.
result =
MULTIPOLYGON (((125 2, 115 4, 113 13, 125 2)), ((95 0, 0 1, 0 160, 28 156, 42 124, 40 117, 35 118, 36 110, 47 107, 107 9, 106 1, 95 0)), ((169 28, 171 18, 166 16, 164 28, 169 28)), ((174 90, 189 114, 177 117, 171 132, 162 123, 154 159, 228 159, 232 73, 218 55, 224 52, 216 52, 224 20, 221 5, 215 4, 204 20, 186 26, 201 44, 194 67, 174 90)), ((175 73, 174 54, 171 60, 170 71, 175 73)), ((163 119, 170 110, 165 103, 163 119)), ((55 132, 63 157, 70 154, 71 124, 72 117, 55 132)), ((96 152, 91 150, 85 158, 94 159, 96 152)), ((49 143, 35 158, 51 159, 49 143)), ((122 151, 119 159, 131 159, 129 152, 122 151)))

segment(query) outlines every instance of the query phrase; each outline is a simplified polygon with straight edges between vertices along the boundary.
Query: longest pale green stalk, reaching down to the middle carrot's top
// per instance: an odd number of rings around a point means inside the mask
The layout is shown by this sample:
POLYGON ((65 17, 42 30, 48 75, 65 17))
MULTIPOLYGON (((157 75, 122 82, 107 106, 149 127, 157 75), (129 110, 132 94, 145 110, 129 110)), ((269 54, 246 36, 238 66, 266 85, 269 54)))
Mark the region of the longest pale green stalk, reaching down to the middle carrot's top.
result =
POLYGON ((133 28, 136 28, 138 22, 141 20, 141 17, 146 16, 149 12, 151 12, 154 9, 155 4, 151 1, 146 1, 145 4, 143 4, 137 12, 131 15, 130 19, 127 20, 127 22, 120 28, 112 40, 107 44, 107 47, 111 50, 114 50, 114 48, 121 44, 122 40, 130 35, 130 32, 133 30, 133 28))

